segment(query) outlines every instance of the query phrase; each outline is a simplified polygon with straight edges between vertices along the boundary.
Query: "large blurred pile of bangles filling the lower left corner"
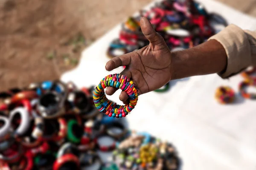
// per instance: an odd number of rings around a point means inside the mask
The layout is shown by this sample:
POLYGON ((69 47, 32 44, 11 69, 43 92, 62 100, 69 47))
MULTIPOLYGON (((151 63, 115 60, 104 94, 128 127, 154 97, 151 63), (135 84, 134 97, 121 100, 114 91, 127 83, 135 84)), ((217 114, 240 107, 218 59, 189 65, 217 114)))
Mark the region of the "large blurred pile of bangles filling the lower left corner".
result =
POLYGON ((45 81, 0 92, 0 169, 114 170, 100 153, 111 153, 131 131, 125 119, 99 112, 93 91, 45 81))

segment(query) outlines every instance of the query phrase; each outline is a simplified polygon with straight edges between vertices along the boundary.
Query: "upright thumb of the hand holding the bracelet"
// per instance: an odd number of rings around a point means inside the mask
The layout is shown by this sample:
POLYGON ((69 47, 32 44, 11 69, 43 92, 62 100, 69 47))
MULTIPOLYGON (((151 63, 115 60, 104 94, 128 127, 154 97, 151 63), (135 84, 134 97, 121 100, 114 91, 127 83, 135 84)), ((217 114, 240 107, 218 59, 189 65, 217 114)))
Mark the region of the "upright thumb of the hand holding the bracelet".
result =
POLYGON ((144 36, 151 44, 157 44, 161 40, 161 36, 156 33, 150 21, 146 17, 140 19, 140 28, 144 36))

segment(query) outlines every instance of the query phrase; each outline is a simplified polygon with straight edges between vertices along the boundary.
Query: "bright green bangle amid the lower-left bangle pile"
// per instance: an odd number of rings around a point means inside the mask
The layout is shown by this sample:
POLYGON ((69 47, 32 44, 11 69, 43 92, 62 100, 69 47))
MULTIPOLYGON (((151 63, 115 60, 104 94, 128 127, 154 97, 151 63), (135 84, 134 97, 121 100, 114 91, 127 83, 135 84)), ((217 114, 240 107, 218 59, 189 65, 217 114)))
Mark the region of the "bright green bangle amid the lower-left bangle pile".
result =
POLYGON ((80 132, 80 128, 81 128, 81 126, 78 124, 78 122, 76 120, 71 119, 70 121, 68 121, 68 123, 67 123, 67 139, 70 142, 80 143, 81 135, 74 134, 74 132, 76 132, 77 130, 78 130, 78 132, 80 132), (74 129, 74 128, 76 128, 76 129, 74 129))

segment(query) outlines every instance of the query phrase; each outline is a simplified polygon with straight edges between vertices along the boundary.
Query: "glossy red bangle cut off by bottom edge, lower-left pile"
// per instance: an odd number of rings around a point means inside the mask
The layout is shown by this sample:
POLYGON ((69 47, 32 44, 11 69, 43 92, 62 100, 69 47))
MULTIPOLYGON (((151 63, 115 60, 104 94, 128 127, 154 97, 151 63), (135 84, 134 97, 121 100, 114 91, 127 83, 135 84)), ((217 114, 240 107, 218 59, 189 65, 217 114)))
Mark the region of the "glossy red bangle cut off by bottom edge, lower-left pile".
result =
POLYGON ((60 170, 61 167, 65 167, 67 163, 72 163, 70 164, 72 166, 69 166, 70 169, 74 169, 74 170, 80 169, 78 157, 69 153, 56 159, 56 161, 53 164, 53 170, 60 170))

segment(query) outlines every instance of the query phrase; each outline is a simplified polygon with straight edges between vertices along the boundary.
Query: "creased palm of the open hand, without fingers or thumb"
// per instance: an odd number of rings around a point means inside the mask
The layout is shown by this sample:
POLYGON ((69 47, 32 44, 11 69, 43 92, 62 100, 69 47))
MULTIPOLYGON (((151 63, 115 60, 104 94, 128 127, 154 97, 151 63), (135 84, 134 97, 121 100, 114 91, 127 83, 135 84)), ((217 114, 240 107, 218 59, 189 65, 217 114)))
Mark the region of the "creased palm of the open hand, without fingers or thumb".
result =
POLYGON ((128 71, 142 94, 162 87, 170 80, 171 57, 167 45, 149 44, 131 53, 128 71))

